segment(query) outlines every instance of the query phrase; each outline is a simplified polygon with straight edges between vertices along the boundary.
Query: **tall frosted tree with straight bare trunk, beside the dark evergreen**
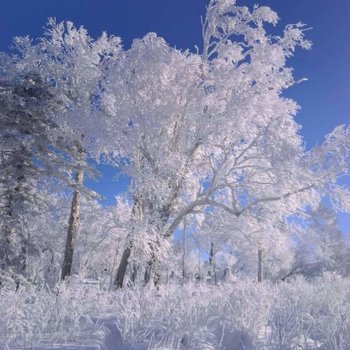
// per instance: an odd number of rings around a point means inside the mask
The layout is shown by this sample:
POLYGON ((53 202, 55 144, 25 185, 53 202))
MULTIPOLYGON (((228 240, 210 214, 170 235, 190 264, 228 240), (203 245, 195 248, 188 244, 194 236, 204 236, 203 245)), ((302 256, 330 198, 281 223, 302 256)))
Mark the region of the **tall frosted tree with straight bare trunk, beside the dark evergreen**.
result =
MULTIPOLYGON (((59 125, 62 142, 71 150, 73 188, 61 278, 71 274, 77 240, 81 192, 87 160, 101 159, 113 153, 113 127, 99 111, 101 82, 106 78, 109 62, 115 64, 121 51, 120 39, 105 33, 93 40, 83 28, 71 22, 50 19, 45 36, 36 42, 16 39, 21 65, 33 67, 48 83, 50 92, 60 99, 62 108, 53 116, 59 125), (113 60, 112 60, 113 59, 113 60)), ((115 147, 114 147, 115 149, 115 147)))

